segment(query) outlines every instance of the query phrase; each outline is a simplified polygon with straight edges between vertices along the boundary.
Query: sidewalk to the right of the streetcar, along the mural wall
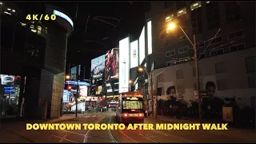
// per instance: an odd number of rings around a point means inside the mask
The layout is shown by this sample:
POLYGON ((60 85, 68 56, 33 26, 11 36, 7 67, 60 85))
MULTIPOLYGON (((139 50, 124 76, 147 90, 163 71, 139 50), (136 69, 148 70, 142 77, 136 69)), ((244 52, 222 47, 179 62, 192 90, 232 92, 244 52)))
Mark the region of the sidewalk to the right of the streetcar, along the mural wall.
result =
MULTIPOLYGON (((153 117, 148 117, 153 118, 153 117)), ((197 119, 187 118, 187 119, 178 119, 168 116, 158 115, 159 120, 171 122, 171 123, 199 123, 197 119)), ((204 123, 220 123, 220 122, 210 122, 208 120, 203 121, 204 123)), ((228 126, 228 130, 205 130, 206 132, 210 132, 212 134, 218 135, 226 135, 230 137, 238 137, 238 138, 246 138, 248 140, 254 140, 256 142, 256 131, 255 130, 245 130, 245 129, 238 129, 238 128, 231 128, 228 126)))

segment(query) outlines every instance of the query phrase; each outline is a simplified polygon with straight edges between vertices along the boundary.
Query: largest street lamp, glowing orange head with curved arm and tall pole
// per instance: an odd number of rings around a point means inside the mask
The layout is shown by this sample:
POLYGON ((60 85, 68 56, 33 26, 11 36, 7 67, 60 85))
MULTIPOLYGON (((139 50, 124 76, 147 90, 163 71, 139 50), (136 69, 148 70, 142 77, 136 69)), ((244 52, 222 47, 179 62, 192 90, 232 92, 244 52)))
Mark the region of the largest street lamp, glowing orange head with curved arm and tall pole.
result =
MULTIPOLYGON (((174 30, 176 27, 176 24, 174 22, 171 22, 167 26, 167 30, 174 30)), ((195 72, 196 72, 196 78, 197 78, 197 87, 198 87, 198 111, 199 111, 199 121, 202 123, 202 104, 201 104, 201 94, 200 94, 200 85, 199 85, 199 70, 198 70, 198 50, 195 42, 195 34, 193 36, 194 43, 190 40, 190 38, 187 36, 186 32, 182 29, 181 26, 178 26, 182 32, 185 34, 186 38, 190 41, 191 45, 194 47, 194 65, 195 65, 195 72)))

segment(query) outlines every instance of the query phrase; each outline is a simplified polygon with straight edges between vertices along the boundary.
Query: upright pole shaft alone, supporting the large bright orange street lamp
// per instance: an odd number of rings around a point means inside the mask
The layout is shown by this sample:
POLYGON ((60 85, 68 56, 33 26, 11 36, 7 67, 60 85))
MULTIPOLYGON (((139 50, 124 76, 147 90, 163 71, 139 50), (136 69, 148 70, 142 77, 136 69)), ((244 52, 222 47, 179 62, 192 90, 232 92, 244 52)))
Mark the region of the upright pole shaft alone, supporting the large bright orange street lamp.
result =
POLYGON ((195 65, 195 74, 197 78, 197 87, 198 87, 198 112, 199 112, 199 122, 202 123, 202 102, 201 102, 201 94, 200 94, 200 83, 199 83, 199 70, 198 70, 198 50, 195 42, 195 34, 194 34, 194 65, 195 65))

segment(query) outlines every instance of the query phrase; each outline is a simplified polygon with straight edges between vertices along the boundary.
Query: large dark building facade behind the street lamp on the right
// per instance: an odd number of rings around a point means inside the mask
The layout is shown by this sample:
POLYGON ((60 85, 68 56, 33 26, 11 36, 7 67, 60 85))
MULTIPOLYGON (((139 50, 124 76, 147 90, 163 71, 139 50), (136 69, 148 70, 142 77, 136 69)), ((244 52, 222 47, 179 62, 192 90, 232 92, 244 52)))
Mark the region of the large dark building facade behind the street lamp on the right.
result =
POLYGON ((154 63, 154 89, 158 78, 162 95, 172 86, 177 96, 195 99, 194 50, 184 30, 192 42, 195 35, 201 90, 212 87, 217 97, 241 98, 241 106, 251 106, 256 94, 254 10, 255 2, 151 2, 153 52, 147 66, 154 63), (170 22, 177 25, 174 30, 167 29, 170 22))

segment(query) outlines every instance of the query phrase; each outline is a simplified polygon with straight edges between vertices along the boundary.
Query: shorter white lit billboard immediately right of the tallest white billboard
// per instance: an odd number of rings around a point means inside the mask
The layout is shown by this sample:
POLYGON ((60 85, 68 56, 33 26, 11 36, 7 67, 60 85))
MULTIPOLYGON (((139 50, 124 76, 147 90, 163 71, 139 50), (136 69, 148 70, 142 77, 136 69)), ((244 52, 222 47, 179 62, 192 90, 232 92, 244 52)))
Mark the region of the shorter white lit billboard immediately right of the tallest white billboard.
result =
POLYGON ((138 66, 138 40, 130 42, 130 68, 138 66))

